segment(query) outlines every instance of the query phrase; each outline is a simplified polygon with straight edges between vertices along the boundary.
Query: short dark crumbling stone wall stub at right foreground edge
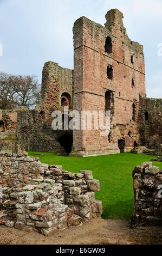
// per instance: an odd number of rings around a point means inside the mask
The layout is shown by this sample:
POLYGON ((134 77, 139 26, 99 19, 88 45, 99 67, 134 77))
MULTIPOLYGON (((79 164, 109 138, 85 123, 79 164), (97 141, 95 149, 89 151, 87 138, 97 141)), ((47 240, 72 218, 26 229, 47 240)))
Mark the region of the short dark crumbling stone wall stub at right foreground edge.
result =
POLYGON ((133 170, 134 213, 132 227, 137 225, 160 225, 162 222, 162 169, 144 162, 133 170))

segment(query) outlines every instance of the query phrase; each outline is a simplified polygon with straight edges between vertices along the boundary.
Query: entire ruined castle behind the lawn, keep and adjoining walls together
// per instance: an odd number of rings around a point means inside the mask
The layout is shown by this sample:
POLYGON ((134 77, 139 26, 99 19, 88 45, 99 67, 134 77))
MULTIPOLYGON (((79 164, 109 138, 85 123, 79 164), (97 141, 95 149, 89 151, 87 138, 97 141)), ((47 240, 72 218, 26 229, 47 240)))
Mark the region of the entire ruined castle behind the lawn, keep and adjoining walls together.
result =
POLYGON ((119 10, 112 9, 105 27, 86 17, 75 21, 74 70, 45 63, 36 108, 1 109, 1 151, 91 156, 162 144, 162 100, 146 97, 143 46, 128 38, 122 18, 119 10), (110 111, 111 131, 101 136, 101 130, 94 129, 93 115, 92 130, 52 130, 55 110, 62 112, 63 125, 72 110, 103 111, 104 118, 110 111))

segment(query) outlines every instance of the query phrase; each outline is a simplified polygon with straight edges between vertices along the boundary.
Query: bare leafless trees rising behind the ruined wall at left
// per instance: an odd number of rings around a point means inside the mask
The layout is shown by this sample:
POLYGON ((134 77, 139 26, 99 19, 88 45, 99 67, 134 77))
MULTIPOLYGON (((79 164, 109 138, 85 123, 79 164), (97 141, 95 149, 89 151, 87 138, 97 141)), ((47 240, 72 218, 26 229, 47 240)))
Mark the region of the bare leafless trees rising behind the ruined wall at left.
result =
POLYGON ((40 100, 36 76, 14 76, 0 72, 0 108, 34 108, 40 100))

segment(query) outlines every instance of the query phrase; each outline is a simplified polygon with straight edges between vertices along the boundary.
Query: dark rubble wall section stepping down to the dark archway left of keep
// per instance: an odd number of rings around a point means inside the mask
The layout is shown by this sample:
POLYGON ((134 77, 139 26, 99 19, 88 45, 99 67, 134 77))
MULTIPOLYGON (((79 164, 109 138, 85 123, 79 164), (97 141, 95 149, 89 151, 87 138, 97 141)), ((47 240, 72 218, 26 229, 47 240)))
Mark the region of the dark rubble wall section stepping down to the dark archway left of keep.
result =
MULTIPOLYGON (((51 123, 51 121, 50 121, 51 123)), ((51 129, 36 109, 17 112, 17 138, 21 149, 67 155, 57 139, 60 133, 51 129)))

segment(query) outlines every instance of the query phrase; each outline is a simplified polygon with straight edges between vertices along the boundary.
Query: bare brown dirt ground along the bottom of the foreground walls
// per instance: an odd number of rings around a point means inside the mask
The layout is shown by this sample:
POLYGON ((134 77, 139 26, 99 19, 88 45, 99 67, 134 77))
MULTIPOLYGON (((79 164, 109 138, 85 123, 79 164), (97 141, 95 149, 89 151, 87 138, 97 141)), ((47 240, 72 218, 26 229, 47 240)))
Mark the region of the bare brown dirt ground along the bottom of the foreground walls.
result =
POLYGON ((96 218, 46 237, 0 226, 1 245, 152 245, 162 244, 161 227, 129 228, 128 221, 96 218))

